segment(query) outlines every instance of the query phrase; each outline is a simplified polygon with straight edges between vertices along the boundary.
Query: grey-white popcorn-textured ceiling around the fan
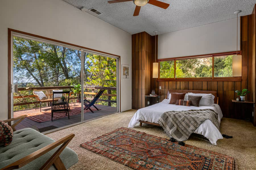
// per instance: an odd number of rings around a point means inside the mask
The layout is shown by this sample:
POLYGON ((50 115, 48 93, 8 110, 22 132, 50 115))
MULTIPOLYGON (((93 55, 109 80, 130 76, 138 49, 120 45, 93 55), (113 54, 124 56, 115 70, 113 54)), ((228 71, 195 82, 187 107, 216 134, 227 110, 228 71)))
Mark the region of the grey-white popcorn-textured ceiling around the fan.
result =
POLYGON ((256 0, 159 0, 169 3, 167 9, 151 4, 141 7, 139 16, 133 16, 133 1, 112 3, 108 0, 62 0, 77 8, 95 8, 101 15, 88 13, 135 34, 142 31, 154 35, 163 34, 214 22, 236 18, 234 11, 242 10, 238 16, 251 14, 256 0))

